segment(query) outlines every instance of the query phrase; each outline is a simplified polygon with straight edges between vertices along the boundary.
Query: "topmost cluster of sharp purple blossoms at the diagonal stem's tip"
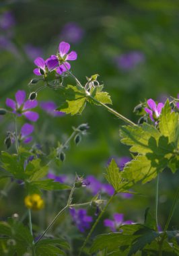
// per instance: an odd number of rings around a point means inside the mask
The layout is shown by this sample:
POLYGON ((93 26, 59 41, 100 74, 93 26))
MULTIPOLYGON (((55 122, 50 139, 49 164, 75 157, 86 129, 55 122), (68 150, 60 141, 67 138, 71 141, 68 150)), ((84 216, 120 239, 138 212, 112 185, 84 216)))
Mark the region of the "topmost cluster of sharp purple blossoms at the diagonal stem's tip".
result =
POLYGON ((61 42, 57 55, 52 55, 46 61, 41 57, 36 58, 34 64, 37 68, 34 69, 34 73, 36 75, 45 75, 48 71, 56 70, 59 75, 62 75, 62 73, 71 68, 68 61, 75 61, 77 59, 77 53, 75 51, 69 53, 69 49, 69 43, 61 42))

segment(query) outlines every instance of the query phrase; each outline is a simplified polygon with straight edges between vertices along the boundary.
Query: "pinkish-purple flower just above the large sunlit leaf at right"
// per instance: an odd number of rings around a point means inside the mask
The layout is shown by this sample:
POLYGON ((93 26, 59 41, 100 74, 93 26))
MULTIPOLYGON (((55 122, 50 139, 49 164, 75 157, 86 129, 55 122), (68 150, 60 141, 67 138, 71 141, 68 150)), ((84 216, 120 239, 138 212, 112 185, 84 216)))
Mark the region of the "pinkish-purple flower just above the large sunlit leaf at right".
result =
POLYGON ((150 98, 147 100, 147 105, 149 108, 144 108, 145 112, 149 114, 151 121, 157 121, 159 115, 162 112, 164 104, 159 102, 159 104, 156 105, 155 101, 150 98))

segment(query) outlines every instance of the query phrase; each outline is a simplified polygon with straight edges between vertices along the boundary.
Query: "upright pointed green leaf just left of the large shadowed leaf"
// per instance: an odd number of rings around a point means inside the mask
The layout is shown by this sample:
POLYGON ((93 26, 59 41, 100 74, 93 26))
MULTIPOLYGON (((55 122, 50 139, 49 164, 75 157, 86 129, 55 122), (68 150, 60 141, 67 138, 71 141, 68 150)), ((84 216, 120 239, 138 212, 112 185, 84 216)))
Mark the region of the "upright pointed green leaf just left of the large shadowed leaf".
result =
POLYGON ((129 185, 129 183, 125 182, 124 179, 122 179, 120 169, 118 168, 116 162, 114 159, 111 160, 108 168, 106 169, 106 180, 112 187, 114 187, 114 190, 116 192, 122 192, 126 189, 125 185, 129 185))

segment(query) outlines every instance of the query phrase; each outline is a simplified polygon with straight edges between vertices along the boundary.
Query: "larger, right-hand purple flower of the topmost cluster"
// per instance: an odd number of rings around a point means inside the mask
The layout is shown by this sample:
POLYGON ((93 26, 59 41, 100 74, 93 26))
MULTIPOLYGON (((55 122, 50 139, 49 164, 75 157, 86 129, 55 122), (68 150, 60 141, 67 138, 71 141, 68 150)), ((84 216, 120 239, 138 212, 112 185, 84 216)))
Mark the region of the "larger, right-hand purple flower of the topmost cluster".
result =
POLYGON ((52 55, 50 58, 46 59, 45 63, 48 69, 52 70, 57 68, 56 70, 59 75, 67 71, 67 69, 70 69, 71 65, 67 61, 75 61, 75 59, 77 59, 77 53, 75 51, 69 53, 69 49, 69 43, 61 42, 59 44, 59 53, 57 53, 57 56, 52 55))

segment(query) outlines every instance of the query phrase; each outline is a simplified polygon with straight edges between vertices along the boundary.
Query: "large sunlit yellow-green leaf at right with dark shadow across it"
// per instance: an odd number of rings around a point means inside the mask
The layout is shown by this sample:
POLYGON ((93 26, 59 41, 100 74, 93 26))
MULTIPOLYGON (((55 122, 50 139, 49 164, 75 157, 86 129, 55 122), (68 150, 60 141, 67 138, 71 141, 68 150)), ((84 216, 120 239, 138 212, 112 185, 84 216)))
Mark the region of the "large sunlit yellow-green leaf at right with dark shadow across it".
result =
POLYGON ((138 155, 125 166, 122 177, 133 183, 146 183, 167 166, 172 172, 179 168, 178 161, 178 113, 172 113, 167 101, 159 119, 159 130, 144 123, 141 126, 123 126, 120 129, 122 143, 131 146, 138 155))

